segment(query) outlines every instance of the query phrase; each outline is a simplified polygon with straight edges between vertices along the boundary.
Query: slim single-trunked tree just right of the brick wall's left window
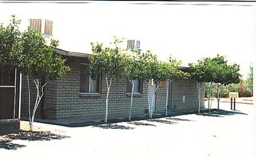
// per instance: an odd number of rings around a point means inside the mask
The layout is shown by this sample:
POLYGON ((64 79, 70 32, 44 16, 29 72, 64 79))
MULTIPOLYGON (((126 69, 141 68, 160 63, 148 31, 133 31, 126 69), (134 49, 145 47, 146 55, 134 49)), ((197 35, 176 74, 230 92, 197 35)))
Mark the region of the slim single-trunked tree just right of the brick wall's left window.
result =
POLYGON ((89 56, 90 72, 98 75, 102 72, 105 75, 107 95, 105 98, 105 122, 108 122, 109 91, 113 79, 122 78, 125 71, 125 53, 118 46, 122 40, 114 37, 110 46, 103 47, 102 43, 92 43, 92 55, 89 56))

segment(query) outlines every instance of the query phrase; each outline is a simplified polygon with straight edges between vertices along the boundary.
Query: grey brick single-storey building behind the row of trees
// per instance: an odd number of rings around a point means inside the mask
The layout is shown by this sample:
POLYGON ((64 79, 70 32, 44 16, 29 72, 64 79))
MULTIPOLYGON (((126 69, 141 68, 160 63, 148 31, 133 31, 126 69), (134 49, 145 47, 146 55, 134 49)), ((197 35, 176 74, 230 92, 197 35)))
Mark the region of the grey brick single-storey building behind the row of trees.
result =
MULTIPOLYGON (((60 79, 50 81, 45 87, 44 99, 38 107, 37 118, 103 120, 107 88, 102 75, 96 79, 90 77, 89 54, 60 49, 57 49, 57 53, 67 59, 66 63, 72 70, 60 79)), ((183 68, 183 70, 186 69, 183 68)), ((147 116, 147 85, 146 81, 136 82, 132 117, 147 116)), ((22 89, 21 116, 26 118, 28 117, 26 82, 23 83, 22 89)), ((168 96, 170 112, 198 110, 196 81, 191 79, 175 81, 170 85, 170 91, 168 96)), ((157 114, 165 113, 165 98, 166 88, 162 85, 157 90, 154 107, 157 114)), ((130 101, 131 83, 126 78, 113 80, 109 94, 109 119, 128 117, 130 101)))

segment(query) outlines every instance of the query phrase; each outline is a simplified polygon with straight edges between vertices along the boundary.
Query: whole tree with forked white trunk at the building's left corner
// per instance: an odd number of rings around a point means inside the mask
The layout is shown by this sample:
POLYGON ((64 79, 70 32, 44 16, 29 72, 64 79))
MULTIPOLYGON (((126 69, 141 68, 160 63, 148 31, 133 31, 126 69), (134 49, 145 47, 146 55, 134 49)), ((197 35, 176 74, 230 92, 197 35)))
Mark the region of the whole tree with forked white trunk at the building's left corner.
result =
POLYGON ((63 59, 57 53, 54 53, 53 46, 57 46, 57 40, 52 40, 50 46, 47 46, 46 40, 37 32, 30 29, 25 30, 21 34, 22 51, 19 53, 19 68, 26 75, 28 81, 28 113, 30 130, 33 130, 34 116, 37 107, 44 96, 44 87, 49 81, 41 85, 40 79, 48 77, 49 80, 60 78, 70 71, 70 67, 65 65, 66 59, 63 59), (33 79, 37 89, 34 108, 31 113, 31 84, 30 79, 33 79))

